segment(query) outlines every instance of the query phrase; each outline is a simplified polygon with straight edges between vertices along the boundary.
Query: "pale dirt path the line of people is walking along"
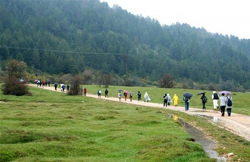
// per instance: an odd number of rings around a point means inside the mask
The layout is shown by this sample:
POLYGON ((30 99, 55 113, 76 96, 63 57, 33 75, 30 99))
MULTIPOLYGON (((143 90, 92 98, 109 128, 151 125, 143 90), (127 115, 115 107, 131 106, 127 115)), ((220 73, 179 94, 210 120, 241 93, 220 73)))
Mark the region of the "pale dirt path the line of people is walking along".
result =
MULTIPOLYGON (((36 85, 31 85, 31 86, 36 86, 36 85)), ((54 87, 44 87, 44 89, 54 90, 54 87)), ((61 92, 60 90, 57 90, 57 91, 61 92)), ((93 94, 87 94, 87 97, 98 98, 97 95, 93 95, 93 94)), ((189 108, 189 111, 185 111, 184 107, 175 107, 175 106, 163 107, 162 104, 158 104, 158 103, 143 102, 143 101, 137 101, 137 100, 133 100, 132 102, 130 102, 129 100, 124 101, 123 98, 121 99, 121 101, 119 101, 118 98, 115 98, 115 97, 105 98, 104 96, 102 96, 100 99, 117 101, 117 102, 122 102, 122 103, 127 103, 127 104, 169 109, 169 110, 183 112, 189 115, 211 118, 211 121, 214 122, 214 124, 218 125, 219 127, 222 127, 250 141, 250 116, 247 116, 247 115, 232 113, 232 116, 230 117, 226 115, 225 117, 222 117, 218 111, 214 111, 214 110, 202 111, 201 109, 198 109, 198 108, 189 108)))

